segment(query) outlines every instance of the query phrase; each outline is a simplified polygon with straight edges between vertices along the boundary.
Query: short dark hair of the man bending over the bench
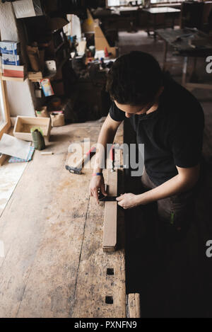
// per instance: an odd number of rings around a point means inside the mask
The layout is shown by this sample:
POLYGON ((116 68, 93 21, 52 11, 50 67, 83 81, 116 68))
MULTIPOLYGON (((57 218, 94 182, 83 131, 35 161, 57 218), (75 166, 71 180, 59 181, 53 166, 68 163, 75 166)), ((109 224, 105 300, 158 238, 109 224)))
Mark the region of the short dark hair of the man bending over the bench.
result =
POLYGON ((145 52, 119 57, 107 76, 107 91, 120 104, 145 105, 154 100, 163 74, 158 61, 145 52))

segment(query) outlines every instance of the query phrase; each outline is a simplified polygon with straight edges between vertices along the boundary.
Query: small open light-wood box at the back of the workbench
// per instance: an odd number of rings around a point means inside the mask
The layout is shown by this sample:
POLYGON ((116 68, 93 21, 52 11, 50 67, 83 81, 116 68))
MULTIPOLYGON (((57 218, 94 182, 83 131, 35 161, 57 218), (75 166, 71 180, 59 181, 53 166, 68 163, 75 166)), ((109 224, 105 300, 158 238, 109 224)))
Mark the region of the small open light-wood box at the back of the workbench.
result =
POLYGON ((51 131, 50 118, 18 116, 16 119, 16 125, 13 130, 13 135, 19 139, 24 139, 25 141, 32 141, 33 137, 30 130, 33 127, 40 127, 40 129, 42 129, 45 139, 49 141, 51 131))

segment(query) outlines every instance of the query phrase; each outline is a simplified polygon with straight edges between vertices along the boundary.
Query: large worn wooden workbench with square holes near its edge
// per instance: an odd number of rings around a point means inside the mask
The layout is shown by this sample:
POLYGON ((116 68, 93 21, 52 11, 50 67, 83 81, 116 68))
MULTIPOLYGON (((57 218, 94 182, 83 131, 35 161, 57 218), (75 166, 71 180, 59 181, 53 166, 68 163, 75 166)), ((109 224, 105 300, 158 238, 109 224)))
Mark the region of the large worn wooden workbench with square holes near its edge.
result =
MULTIPOLYGON (((118 250, 103 253, 105 203, 88 195, 92 170, 65 169, 69 144, 96 142, 101 125, 53 128, 54 155, 36 151, 25 168, 0 219, 0 317, 126 317, 123 212, 118 250)), ((122 136, 120 127, 115 142, 122 136)))

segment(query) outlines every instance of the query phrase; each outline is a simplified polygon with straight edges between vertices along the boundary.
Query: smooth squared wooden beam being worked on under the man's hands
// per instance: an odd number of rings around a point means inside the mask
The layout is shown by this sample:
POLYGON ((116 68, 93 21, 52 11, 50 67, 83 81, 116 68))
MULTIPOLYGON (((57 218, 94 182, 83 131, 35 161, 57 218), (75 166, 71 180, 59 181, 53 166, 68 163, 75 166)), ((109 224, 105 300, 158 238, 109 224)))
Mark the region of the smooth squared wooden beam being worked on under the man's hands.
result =
MULTIPOLYGON (((117 170, 107 171, 109 196, 117 196, 117 170)), ((117 202, 105 202, 105 219, 103 227, 103 251, 115 251, 117 246, 117 202)))

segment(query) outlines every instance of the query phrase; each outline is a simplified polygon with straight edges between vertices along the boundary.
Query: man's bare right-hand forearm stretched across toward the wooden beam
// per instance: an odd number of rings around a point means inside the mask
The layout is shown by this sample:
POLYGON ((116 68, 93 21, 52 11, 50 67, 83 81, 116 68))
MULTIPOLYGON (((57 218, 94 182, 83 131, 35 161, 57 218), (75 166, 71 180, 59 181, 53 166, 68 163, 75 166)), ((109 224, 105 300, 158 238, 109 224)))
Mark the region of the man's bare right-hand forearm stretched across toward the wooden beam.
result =
MULTIPOLYGON (((177 167, 177 166, 176 166, 177 167)), ((137 205, 146 205, 155 200, 182 193, 192 189, 199 179, 199 165, 190 168, 177 167, 178 174, 162 185, 140 195, 124 194, 117 198, 118 204, 124 209, 137 205)))

